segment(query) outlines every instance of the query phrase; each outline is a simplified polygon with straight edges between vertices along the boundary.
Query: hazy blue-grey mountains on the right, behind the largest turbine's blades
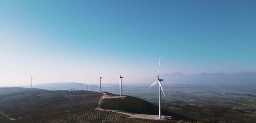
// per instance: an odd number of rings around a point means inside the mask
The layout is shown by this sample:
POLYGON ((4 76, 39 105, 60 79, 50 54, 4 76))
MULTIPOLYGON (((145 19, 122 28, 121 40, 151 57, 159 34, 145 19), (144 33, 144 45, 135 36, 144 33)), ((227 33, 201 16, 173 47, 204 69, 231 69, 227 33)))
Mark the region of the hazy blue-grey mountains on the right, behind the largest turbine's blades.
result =
MULTIPOLYGON (((187 75, 181 72, 173 74, 161 74, 161 79, 164 79, 163 85, 173 84, 256 84, 256 73, 241 72, 236 74, 226 73, 200 73, 187 75)), ((146 78, 141 83, 150 85, 156 81, 156 76, 146 78), (151 83, 149 83, 151 82, 151 83)))

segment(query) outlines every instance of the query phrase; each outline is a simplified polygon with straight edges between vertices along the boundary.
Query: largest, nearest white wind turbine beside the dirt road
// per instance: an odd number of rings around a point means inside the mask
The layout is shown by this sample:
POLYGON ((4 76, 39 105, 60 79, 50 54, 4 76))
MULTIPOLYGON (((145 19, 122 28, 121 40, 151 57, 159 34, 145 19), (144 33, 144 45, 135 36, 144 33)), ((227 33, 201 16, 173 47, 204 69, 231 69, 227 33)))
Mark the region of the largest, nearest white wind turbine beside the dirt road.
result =
MULTIPOLYGON (((158 64, 158 76, 157 76, 157 80, 150 86, 152 87, 154 84, 158 83, 159 87, 158 87, 158 99, 159 99, 159 119, 161 119, 161 90, 163 91, 163 88, 162 88, 162 85, 161 85, 161 81, 163 81, 163 79, 159 79, 159 72, 160 72, 160 60, 161 60, 161 57, 159 57, 159 64, 158 64)), ((150 88, 149 87, 149 88, 150 88)), ((165 93, 163 92, 164 96, 165 96, 165 93)))

